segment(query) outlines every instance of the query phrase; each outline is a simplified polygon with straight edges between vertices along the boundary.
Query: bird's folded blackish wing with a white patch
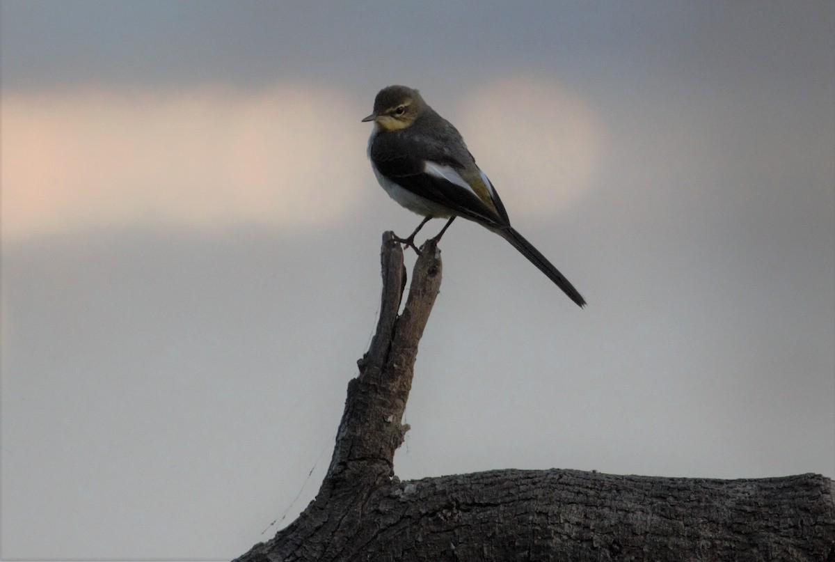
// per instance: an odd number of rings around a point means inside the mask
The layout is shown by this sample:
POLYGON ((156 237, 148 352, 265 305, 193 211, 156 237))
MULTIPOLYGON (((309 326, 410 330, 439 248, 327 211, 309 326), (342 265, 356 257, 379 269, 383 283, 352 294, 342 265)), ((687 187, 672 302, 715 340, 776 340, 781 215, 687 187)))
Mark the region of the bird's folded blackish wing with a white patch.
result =
POLYGON ((381 134, 370 156, 383 176, 415 195, 489 227, 509 226, 493 184, 464 152, 453 154, 428 136, 381 134))

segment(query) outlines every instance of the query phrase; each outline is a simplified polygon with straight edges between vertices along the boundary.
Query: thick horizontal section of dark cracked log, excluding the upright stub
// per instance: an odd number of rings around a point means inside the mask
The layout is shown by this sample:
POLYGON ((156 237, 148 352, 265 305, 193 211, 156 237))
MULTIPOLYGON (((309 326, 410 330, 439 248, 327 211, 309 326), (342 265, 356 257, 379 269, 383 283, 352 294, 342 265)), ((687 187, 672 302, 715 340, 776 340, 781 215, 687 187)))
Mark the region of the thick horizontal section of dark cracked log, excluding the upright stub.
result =
POLYGON ((392 483, 345 559, 826 560, 826 478, 501 470, 392 483))

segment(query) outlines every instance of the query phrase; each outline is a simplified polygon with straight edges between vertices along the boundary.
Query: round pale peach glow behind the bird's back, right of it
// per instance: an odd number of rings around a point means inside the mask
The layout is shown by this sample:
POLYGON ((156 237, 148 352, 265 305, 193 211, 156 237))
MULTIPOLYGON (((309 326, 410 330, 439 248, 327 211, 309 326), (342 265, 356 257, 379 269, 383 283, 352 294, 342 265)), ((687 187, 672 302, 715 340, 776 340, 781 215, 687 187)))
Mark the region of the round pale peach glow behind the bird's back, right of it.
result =
POLYGON ((559 84, 530 77, 485 84, 463 113, 464 138, 511 219, 553 216, 594 179, 605 130, 595 110, 559 84))

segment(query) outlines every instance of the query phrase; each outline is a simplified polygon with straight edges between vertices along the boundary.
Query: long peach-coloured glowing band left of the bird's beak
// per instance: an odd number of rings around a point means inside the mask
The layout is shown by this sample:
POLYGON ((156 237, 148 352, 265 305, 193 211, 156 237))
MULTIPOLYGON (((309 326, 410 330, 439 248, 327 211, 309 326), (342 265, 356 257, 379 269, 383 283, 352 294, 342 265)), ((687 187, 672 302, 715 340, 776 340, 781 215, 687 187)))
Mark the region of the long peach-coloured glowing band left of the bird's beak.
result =
POLYGON ((332 221, 367 182, 346 98, 309 84, 4 96, 3 234, 332 221))

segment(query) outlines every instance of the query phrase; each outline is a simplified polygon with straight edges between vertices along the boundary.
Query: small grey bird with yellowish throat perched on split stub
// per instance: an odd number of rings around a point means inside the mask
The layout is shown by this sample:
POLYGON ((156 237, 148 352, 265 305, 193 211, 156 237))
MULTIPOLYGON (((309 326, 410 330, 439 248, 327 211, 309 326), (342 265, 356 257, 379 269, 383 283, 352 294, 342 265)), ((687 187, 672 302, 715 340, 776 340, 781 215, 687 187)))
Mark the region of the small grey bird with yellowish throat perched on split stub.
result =
POLYGON ((585 306, 585 299, 559 269, 510 226, 508 213, 493 183, 476 165, 458 129, 432 109, 417 89, 387 86, 374 98, 368 158, 377 181, 402 207, 423 216, 408 238, 396 238, 418 254, 417 232, 433 218, 446 218, 440 241, 455 217, 477 222, 507 240, 569 299, 585 306))

